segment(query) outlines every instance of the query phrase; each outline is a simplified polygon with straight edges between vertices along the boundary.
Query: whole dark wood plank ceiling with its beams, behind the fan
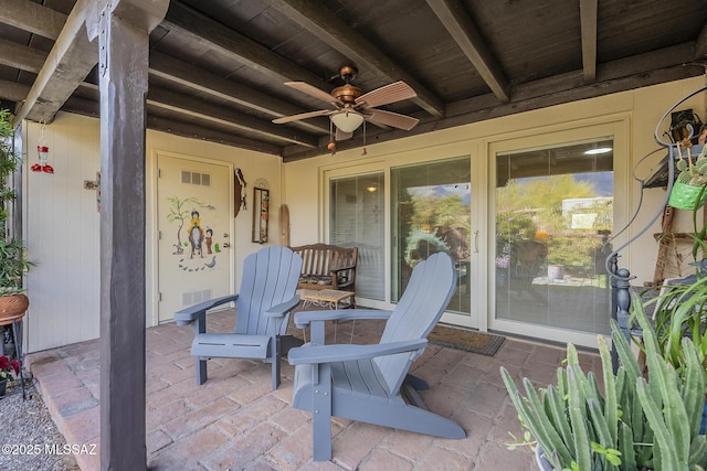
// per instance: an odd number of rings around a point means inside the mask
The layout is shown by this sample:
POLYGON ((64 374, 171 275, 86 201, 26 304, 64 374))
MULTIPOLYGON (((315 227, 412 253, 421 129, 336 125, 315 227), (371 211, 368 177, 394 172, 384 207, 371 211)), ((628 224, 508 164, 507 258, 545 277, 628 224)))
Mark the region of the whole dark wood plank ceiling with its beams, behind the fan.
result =
MULTIPOLYGON (((50 124, 98 116, 91 0, 0 0, 0 107, 50 124)), ((363 93, 404 81, 416 97, 367 124, 380 142, 705 74, 699 0, 172 0, 150 35, 151 129, 282 156, 327 152, 330 109, 285 86, 329 93, 355 65, 363 93)), ((337 142, 360 147, 363 128, 337 142)))

